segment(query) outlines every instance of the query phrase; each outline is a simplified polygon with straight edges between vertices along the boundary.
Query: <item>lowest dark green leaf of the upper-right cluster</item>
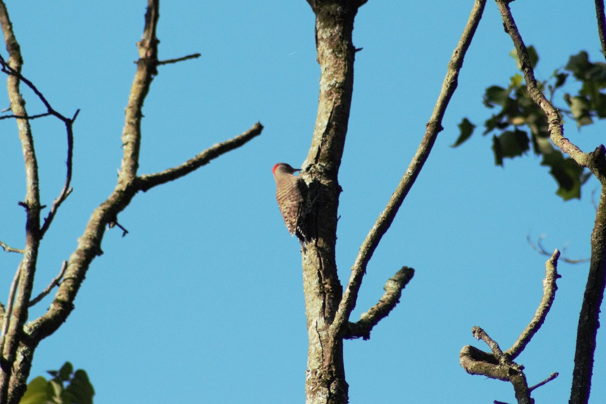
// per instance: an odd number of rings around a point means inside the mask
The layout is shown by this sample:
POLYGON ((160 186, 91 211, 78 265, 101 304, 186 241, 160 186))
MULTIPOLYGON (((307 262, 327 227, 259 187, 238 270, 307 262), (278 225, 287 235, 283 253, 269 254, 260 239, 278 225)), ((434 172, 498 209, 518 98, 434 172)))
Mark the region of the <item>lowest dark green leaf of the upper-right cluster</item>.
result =
POLYGON ((564 158, 561 151, 553 149, 553 152, 543 156, 541 165, 551 168, 549 172, 558 183, 556 195, 565 201, 581 198, 581 185, 587 181, 587 176, 583 175, 583 168, 572 158, 564 158))

